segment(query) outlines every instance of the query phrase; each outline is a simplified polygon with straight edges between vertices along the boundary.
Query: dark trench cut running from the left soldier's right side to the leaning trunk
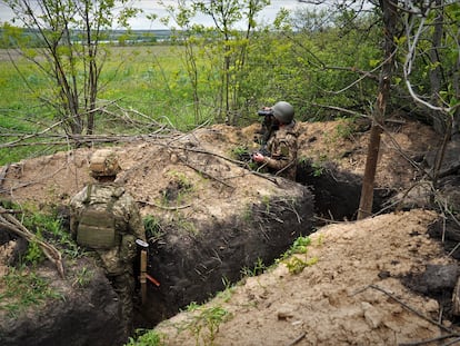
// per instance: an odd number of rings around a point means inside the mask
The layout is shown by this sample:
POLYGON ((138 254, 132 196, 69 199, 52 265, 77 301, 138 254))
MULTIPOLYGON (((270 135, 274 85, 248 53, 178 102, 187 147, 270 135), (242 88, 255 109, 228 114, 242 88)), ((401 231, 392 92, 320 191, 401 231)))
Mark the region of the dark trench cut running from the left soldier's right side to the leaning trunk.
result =
MULTIPOLYGON (((299 236, 308 236, 314 227, 330 220, 356 219, 361 180, 362 177, 341 171, 332 165, 324 166, 321 174, 308 164, 299 166, 297 182, 311 192, 299 211, 309 219, 302 229, 298 228, 296 215, 282 204, 274 202, 273 212, 283 219, 282 224, 263 219, 258 210, 262 207, 254 206, 254 215, 261 216, 259 226, 263 226, 263 235, 259 231, 261 227, 241 231, 248 225, 240 225, 236 219, 210 224, 198 238, 168 230, 163 244, 152 244, 149 255, 148 271, 161 286, 149 285, 149 305, 138 307, 136 327, 152 328, 192 301, 204 303, 226 289, 226 284, 240 280, 242 268, 259 274, 256 271, 263 269, 258 267, 259 264, 270 266, 299 236), (223 235, 222 229, 226 230, 223 235)), ((376 190, 373 210, 380 210, 390 195, 388 190, 376 190)))

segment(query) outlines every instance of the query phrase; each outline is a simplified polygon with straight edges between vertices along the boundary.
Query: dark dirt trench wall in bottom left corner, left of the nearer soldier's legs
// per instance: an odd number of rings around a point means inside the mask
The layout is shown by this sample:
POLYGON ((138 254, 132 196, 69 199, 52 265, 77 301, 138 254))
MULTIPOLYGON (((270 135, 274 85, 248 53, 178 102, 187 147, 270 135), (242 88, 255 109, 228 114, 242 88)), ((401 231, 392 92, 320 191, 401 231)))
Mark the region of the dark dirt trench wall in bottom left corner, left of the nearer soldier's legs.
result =
POLYGON ((81 260, 72 270, 82 267, 92 273, 91 281, 83 287, 72 279, 77 273, 67 271, 68 278, 62 280, 52 266, 42 267, 40 275, 58 287, 62 298, 19 316, 0 310, 0 345, 123 345, 126 338, 116 293, 103 271, 93 264, 81 260))

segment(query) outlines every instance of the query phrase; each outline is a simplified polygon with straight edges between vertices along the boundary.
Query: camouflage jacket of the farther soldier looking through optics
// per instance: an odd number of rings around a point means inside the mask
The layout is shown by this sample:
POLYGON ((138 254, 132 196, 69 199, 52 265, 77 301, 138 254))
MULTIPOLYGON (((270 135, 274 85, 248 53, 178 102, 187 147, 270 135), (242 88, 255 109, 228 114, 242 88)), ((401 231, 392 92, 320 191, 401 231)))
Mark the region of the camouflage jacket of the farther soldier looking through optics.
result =
POLYGON ((297 125, 292 121, 273 131, 267 141, 270 157, 266 157, 269 171, 291 180, 296 180, 297 172, 297 125))

